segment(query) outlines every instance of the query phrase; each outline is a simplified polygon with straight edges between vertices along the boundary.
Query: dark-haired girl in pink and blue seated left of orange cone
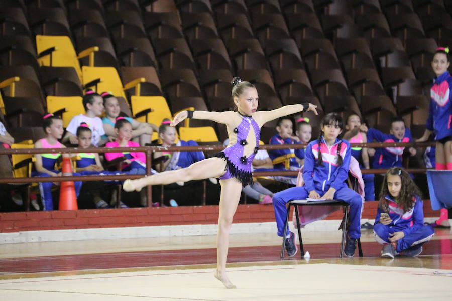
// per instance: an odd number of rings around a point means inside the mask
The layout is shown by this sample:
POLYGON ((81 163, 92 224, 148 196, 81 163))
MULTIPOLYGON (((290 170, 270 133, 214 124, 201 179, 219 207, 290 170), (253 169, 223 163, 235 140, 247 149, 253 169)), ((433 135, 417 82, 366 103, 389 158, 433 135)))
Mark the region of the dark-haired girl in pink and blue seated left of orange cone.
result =
MULTIPOLYGON (((47 136, 36 141, 35 148, 66 148, 63 144, 58 142, 63 135, 63 120, 47 114, 44 116, 43 129, 47 136)), ((56 177, 61 176, 61 172, 55 170, 55 163, 61 154, 35 154, 35 170, 32 172, 32 177, 56 177)), ((63 157, 69 157, 69 154, 63 154, 63 157)), ((74 176, 80 176, 78 173, 72 173, 74 176)), ((58 183, 59 184, 59 183, 58 183)), ((74 182, 75 193, 78 196, 80 193, 82 182, 74 182)), ((43 210, 53 210, 52 197, 52 182, 39 182, 39 190, 41 192, 41 199, 43 210)))

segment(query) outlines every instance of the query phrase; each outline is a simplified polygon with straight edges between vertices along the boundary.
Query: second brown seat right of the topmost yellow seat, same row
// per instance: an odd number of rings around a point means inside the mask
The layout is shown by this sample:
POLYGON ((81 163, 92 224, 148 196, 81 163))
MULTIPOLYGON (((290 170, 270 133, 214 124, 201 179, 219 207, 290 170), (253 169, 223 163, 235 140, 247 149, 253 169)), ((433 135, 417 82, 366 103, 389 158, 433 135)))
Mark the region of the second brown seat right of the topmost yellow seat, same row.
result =
POLYGON ((121 65, 127 67, 153 66, 158 68, 151 42, 147 38, 118 38, 116 51, 121 65))

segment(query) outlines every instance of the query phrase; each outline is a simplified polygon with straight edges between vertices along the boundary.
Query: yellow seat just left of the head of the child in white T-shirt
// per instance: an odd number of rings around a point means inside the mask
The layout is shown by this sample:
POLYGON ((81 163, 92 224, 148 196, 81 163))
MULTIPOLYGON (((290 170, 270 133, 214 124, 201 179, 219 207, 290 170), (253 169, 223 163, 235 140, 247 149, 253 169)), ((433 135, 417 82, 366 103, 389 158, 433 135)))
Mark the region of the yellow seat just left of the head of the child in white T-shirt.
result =
POLYGON ((82 98, 80 96, 47 96, 47 111, 50 113, 56 113, 60 110, 63 111, 63 125, 67 127, 72 117, 84 114, 85 108, 83 107, 82 98))

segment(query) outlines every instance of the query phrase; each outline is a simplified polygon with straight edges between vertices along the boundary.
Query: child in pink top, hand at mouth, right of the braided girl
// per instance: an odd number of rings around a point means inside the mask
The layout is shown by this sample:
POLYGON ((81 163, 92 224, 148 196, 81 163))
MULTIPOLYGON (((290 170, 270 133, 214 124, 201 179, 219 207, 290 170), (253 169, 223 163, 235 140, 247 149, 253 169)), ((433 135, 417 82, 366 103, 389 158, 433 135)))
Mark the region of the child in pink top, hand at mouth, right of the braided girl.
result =
MULTIPOLYGON (((366 124, 361 122, 361 117, 352 114, 347 118, 346 123, 347 132, 344 134, 344 139, 350 143, 366 143, 368 131, 366 124)), ((361 169, 369 169, 369 154, 367 147, 352 147, 352 156, 360 163, 361 169)), ((375 200, 374 174, 363 174, 365 200, 375 200)))

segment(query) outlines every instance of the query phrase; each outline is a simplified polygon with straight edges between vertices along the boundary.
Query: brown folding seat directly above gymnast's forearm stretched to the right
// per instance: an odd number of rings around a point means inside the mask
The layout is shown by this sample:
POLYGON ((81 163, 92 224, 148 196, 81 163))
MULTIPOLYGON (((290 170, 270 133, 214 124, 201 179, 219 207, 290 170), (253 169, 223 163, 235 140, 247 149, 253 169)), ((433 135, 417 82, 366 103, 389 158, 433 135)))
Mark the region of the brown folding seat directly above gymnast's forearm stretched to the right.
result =
POLYGON ((314 96, 309 78, 303 69, 277 70, 275 86, 284 105, 289 104, 289 98, 314 96))

